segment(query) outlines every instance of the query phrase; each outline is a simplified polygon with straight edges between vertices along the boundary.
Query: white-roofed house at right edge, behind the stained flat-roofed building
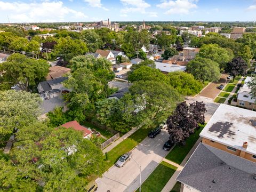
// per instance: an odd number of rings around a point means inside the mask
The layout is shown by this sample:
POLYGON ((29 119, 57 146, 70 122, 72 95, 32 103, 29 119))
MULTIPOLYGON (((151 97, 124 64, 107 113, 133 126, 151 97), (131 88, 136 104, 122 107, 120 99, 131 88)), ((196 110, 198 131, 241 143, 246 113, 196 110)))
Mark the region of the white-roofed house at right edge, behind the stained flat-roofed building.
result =
POLYGON ((252 77, 246 77, 244 85, 240 87, 237 92, 237 106, 245 107, 247 109, 254 109, 255 99, 250 95, 251 89, 248 87, 248 82, 252 80, 252 77))

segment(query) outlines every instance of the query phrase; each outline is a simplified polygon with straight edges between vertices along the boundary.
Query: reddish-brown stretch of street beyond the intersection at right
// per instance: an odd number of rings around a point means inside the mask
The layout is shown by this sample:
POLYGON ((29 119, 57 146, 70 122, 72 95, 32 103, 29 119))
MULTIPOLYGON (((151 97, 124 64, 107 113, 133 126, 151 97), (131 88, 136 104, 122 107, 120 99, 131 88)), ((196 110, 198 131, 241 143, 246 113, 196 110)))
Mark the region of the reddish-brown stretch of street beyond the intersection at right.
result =
POLYGON ((222 74, 218 83, 210 83, 207 87, 205 87, 205 89, 201 93, 199 93, 199 95, 201 95, 203 97, 214 99, 215 97, 217 97, 217 95, 221 91, 217 87, 220 86, 220 84, 224 85, 226 82, 226 78, 228 76, 229 75, 227 75, 227 74, 222 74))

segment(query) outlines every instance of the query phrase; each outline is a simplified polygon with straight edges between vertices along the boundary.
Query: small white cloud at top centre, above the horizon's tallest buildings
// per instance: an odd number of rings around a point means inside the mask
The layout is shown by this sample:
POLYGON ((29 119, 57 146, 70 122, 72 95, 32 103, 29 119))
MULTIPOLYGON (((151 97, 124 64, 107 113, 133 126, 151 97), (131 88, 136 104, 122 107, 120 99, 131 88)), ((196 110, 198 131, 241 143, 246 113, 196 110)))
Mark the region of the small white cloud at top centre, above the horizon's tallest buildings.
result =
POLYGON ((143 0, 120 0, 124 8, 121 9, 121 13, 130 13, 130 12, 138 12, 138 13, 146 13, 146 8, 150 7, 150 4, 146 3, 143 0))

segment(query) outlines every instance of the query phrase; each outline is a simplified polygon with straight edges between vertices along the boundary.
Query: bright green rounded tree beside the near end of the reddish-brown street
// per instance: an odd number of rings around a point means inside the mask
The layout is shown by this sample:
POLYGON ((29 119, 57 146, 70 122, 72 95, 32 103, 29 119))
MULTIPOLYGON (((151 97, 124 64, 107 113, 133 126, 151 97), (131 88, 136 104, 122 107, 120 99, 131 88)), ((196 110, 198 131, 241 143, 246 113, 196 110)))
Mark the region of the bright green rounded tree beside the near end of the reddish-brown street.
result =
POLYGON ((170 85, 182 95, 195 95, 202 90, 202 83, 186 72, 175 71, 168 77, 170 85))

